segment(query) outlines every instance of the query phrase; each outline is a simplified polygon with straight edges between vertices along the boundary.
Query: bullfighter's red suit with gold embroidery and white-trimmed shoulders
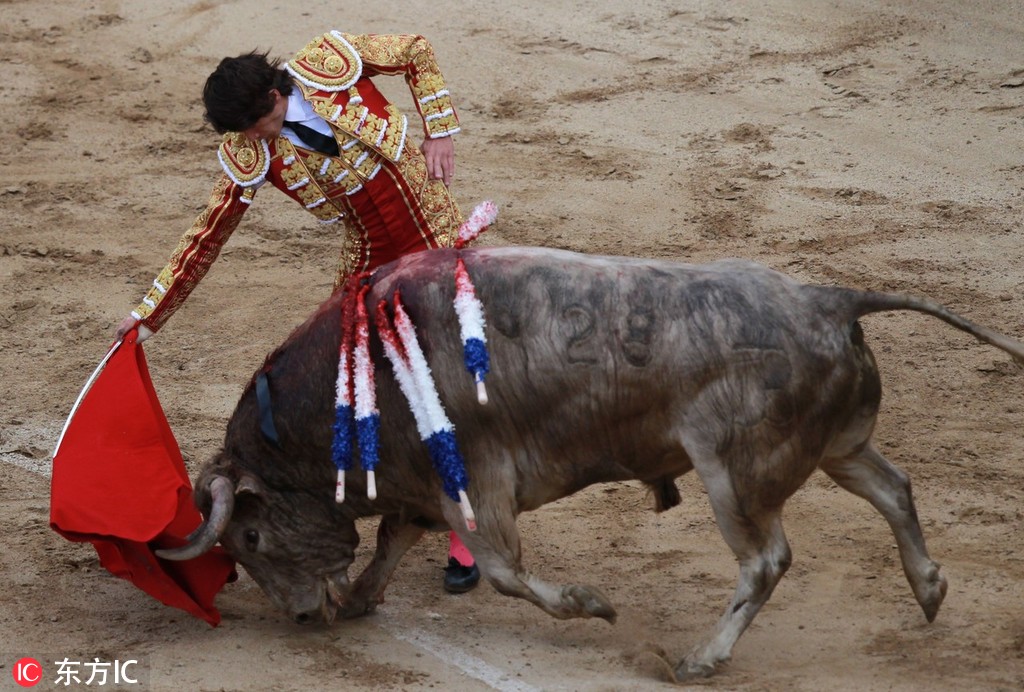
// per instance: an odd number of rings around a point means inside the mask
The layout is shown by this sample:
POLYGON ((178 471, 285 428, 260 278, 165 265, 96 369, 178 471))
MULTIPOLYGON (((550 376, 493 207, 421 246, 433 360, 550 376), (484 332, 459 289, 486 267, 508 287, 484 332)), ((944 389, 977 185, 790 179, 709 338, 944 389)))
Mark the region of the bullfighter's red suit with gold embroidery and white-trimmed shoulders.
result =
POLYGON ((224 173, 206 209, 181 237, 167 266, 132 315, 156 332, 206 274, 256 190, 271 183, 323 223, 342 221, 336 286, 427 248, 449 247, 462 222, 439 180, 429 179, 419 149, 407 142, 408 120, 370 81, 403 75, 430 138, 459 132, 459 119, 430 44, 421 36, 317 36, 285 69, 301 96, 331 126, 339 155, 296 146, 287 137, 249 141, 224 135, 224 173))

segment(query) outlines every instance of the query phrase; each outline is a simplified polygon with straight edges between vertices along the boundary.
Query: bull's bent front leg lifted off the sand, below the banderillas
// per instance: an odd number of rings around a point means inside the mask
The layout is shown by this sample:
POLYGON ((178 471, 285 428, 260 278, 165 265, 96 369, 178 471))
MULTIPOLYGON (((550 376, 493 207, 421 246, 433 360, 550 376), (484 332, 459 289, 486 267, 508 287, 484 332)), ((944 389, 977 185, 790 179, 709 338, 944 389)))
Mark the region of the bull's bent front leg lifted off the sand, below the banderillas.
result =
POLYGON ((506 596, 529 601, 559 619, 601 617, 615 620, 615 609, 594 587, 551 585, 522 566, 519 529, 511 507, 476 506, 476 530, 470 531, 459 507, 444 501, 444 517, 473 554, 480 573, 506 596))

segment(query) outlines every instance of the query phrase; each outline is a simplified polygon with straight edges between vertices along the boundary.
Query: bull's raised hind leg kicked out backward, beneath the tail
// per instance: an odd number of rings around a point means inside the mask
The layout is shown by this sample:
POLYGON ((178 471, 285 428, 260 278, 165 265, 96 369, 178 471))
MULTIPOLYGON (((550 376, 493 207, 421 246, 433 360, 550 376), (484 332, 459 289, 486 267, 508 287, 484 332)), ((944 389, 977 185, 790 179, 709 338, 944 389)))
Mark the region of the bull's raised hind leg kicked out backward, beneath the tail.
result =
POLYGON ((934 620, 946 595, 946 577, 928 556, 910 479, 871 444, 857 455, 826 460, 821 468, 842 487, 869 502, 889 522, 913 596, 928 621, 934 620))

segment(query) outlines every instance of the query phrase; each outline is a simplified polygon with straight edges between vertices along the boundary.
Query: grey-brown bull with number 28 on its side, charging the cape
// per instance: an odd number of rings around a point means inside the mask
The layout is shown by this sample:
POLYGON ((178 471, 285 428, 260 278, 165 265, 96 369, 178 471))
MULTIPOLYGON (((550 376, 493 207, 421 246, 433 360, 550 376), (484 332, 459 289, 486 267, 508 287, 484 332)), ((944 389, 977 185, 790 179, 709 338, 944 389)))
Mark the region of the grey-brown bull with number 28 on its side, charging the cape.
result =
POLYGON ((204 524, 163 557, 188 559, 219 540, 297 622, 331 621, 373 611, 402 554, 425 530, 451 526, 499 592, 558 618, 613 621, 599 590, 553 585, 523 567, 516 517, 594 483, 631 479, 664 511, 680 502, 675 479, 695 470, 739 575, 721 619, 676 666, 685 680, 729 659, 785 573, 782 506, 821 469, 885 517, 914 598, 935 618, 946 579, 928 554, 907 476, 871 442, 882 387, 858 319, 927 313, 1022 362, 1024 344, 926 299, 803 285, 742 260, 462 250, 487 318, 490 400, 480 405, 452 308, 456 252, 380 268, 368 302, 401 292, 457 431, 476 530, 434 473, 374 329, 377 496, 350 474, 336 502, 339 293, 263 367, 279 439, 260 432, 267 412, 251 384, 223 448, 197 479, 204 524), (355 520, 367 516, 381 517, 376 553, 349 581, 355 520))

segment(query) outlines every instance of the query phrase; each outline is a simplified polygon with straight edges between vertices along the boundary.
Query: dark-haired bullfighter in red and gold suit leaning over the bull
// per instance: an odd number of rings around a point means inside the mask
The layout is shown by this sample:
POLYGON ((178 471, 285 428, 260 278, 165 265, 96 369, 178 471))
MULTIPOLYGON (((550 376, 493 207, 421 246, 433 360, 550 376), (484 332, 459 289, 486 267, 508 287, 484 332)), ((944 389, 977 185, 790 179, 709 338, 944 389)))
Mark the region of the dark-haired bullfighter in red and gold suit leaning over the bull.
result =
MULTIPOLYGON (((142 302, 117 330, 157 332, 188 297, 270 183, 321 223, 341 224, 335 288, 409 253, 451 247, 462 215, 449 190, 459 118, 422 36, 317 36, 284 68, 252 52, 224 58, 203 92, 206 118, 223 134, 223 173, 142 302), (371 81, 406 78, 426 138, 410 143, 409 121, 371 81)), ((469 591, 480 573, 450 534, 444 588, 469 591)))

